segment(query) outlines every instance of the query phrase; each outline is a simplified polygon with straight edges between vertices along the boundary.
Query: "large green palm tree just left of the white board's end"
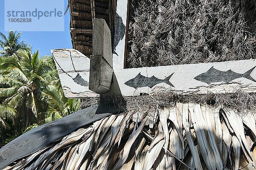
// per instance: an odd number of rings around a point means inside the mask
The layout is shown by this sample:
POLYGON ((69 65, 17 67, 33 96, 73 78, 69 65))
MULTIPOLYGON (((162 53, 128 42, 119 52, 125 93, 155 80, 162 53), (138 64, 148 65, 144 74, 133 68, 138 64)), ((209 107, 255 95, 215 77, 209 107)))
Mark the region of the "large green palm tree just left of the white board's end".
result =
POLYGON ((38 51, 31 54, 30 51, 21 50, 17 55, 2 59, 0 68, 0 83, 4 86, 0 89, 0 97, 4 98, 1 111, 13 115, 14 110, 16 114, 23 113, 25 127, 28 127, 32 116, 38 119, 43 116, 40 113, 44 106, 39 101, 42 91, 52 80, 53 69, 49 65, 49 57, 39 59, 38 51))

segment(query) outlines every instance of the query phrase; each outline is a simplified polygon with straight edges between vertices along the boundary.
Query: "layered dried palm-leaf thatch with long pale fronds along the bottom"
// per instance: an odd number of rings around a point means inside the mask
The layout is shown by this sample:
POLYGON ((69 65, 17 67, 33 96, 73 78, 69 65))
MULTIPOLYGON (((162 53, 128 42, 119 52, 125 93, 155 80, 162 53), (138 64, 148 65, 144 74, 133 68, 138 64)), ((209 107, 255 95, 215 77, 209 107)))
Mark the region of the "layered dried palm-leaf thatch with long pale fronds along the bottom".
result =
POLYGON ((255 115, 177 103, 154 115, 112 115, 4 170, 251 170, 255 115))

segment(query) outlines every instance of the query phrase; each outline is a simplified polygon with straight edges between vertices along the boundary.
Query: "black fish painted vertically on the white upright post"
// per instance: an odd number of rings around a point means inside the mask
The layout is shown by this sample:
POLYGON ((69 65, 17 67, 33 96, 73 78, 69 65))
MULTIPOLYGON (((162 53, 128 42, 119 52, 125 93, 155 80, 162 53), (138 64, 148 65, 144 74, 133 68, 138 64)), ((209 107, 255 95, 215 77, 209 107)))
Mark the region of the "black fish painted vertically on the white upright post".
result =
POLYGON ((116 53, 116 46, 118 45, 119 41, 123 39, 125 36, 125 25, 122 22, 122 17, 120 17, 116 13, 116 26, 115 26, 115 37, 114 37, 114 49, 113 49, 113 54, 118 54, 116 53))

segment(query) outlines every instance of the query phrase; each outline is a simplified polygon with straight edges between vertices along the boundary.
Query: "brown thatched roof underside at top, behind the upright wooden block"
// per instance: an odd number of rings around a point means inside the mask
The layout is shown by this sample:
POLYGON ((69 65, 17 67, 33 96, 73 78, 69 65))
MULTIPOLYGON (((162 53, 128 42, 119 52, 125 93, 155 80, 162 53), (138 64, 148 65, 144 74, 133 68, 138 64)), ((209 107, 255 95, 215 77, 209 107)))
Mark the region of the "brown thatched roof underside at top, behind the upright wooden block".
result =
POLYGON ((113 32, 116 0, 69 0, 68 2, 73 48, 90 57, 93 50, 93 19, 105 19, 113 32))

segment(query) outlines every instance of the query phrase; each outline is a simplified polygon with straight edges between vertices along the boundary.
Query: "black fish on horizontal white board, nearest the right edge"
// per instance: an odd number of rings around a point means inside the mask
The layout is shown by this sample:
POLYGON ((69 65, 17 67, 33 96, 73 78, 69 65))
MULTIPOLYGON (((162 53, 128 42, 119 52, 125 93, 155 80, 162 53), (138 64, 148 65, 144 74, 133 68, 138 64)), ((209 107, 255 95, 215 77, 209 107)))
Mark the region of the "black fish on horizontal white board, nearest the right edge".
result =
POLYGON ((210 84, 210 83, 213 83, 213 82, 229 83, 234 79, 244 77, 244 78, 249 79, 253 82, 256 82, 256 80, 253 79, 250 76, 250 74, 254 70, 254 68, 255 67, 253 67, 252 69, 250 69, 249 71, 247 71, 244 74, 239 74, 239 73, 236 73, 232 70, 219 71, 219 70, 213 68, 213 66, 212 66, 207 72, 198 75, 194 79, 196 79, 200 82, 206 82, 206 83, 210 84))

